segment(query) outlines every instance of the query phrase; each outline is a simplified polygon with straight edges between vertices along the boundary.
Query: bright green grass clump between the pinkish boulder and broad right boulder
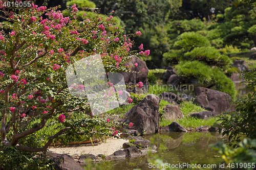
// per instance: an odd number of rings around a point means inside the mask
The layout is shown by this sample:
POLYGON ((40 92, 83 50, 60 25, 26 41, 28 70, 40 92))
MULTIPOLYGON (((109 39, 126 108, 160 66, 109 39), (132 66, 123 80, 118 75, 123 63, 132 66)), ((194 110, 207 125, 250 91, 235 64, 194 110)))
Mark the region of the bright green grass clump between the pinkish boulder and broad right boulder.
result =
POLYGON ((201 111, 206 111, 204 108, 202 108, 201 106, 198 106, 196 104, 193 104, 192 101, 188 101, 188 102, 183 102, 180 104, 180 110, 181 112, 186 116, 189 113, 193 113, 193 112, 201 112, 201 111))

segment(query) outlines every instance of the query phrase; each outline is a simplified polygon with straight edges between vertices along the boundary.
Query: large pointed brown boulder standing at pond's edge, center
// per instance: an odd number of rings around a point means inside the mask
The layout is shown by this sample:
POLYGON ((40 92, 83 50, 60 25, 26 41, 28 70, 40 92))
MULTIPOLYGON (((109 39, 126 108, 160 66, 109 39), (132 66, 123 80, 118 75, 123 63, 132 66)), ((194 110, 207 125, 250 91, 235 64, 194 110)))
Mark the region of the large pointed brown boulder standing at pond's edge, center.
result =
MULTIPOLYGON (((148 94, 136 106, 132 107, 124 114, 121 123, 133 123, 132 129, 137 130, 140 135, 143 131, 146 134, 152 134, 159 131, 159 103, 160 99, 154 94, 148 94)), ((123 125, 123 129, 129 129, 123 125)))

